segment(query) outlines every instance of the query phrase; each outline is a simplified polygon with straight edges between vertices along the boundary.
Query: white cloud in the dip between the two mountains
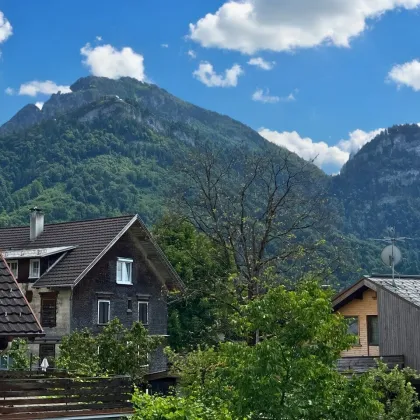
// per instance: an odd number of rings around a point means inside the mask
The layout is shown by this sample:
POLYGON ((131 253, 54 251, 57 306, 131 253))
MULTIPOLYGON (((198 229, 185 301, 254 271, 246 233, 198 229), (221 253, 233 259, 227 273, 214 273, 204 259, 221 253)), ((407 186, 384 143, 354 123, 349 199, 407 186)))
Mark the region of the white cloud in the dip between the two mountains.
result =
POLYGON ((321 167, 339 170, 360 148, 375 138, 382 129, 373 131, 355 130, 349 133, 349 138, 340 140, 330 146, 324 141, 315 142, 310 137, 301 137, 296 131, 278 132, 261 128, 259 133, 271 143, 285 147, 306 160, 315 159, 314 163, 321 167))

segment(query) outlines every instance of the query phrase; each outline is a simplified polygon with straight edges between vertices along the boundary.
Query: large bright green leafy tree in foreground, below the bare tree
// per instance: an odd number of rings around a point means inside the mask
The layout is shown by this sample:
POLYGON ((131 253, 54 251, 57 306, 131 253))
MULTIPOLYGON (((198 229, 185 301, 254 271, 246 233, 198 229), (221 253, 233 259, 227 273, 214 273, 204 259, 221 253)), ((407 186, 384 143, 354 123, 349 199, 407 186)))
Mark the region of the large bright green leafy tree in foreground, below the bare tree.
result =
POLYGON ((235 419, 378 418, 382 406, 370 378, 348 379, 336 370, 353 338, 330 298, 308 279, 249 302, 234 321, 239 336, 259 331, 260 342, 225 342, 175 357, 180 392, 208 405, 220 400, 235 419))

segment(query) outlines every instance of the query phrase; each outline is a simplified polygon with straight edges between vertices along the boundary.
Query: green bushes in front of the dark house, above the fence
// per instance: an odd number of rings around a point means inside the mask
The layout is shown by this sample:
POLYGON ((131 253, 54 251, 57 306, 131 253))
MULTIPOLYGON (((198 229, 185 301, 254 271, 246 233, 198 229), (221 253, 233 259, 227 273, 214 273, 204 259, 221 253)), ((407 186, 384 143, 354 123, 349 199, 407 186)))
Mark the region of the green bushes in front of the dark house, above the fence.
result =
POLYGON ((82 376, 130 375, 141 380, 147 373, 148 355, 161 344, 136 322, 125 328, 113 319, 93 335, 88 329, 64 336, 56 360, 59 369, 82 376))

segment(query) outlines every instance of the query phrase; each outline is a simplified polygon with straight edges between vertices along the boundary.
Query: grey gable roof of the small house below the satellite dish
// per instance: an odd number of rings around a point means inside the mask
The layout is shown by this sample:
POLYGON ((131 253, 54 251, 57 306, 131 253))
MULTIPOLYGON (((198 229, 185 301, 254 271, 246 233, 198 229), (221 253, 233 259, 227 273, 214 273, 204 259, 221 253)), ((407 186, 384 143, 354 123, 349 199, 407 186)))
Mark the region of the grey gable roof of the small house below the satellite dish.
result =
POLYGON ((400 299, 420 308, 420 276, 398 276, 394 281, 391 276, 364 276, 362 279, 341 291, 333 298, 334 310, 338 310, 350 300, 367 289, 378 290, 381 288, 400 299))

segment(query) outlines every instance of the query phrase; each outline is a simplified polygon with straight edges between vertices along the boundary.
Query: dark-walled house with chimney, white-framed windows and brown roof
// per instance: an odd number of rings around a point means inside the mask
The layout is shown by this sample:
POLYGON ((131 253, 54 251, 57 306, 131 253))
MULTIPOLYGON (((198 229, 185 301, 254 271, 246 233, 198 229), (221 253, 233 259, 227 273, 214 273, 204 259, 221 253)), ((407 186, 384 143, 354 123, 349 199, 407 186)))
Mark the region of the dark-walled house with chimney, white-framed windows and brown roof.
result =
MULTIPOLYGON (((0 229, 0 249, 45 331, 31 345, 40 360, 53 361, 63 335, 115 317, 167 334, 167 292, 183 284, 139 216, 44 225, 35 208, 29 226, 0 229)), ((160 352, 150 371, 165 370, 160 352)))

